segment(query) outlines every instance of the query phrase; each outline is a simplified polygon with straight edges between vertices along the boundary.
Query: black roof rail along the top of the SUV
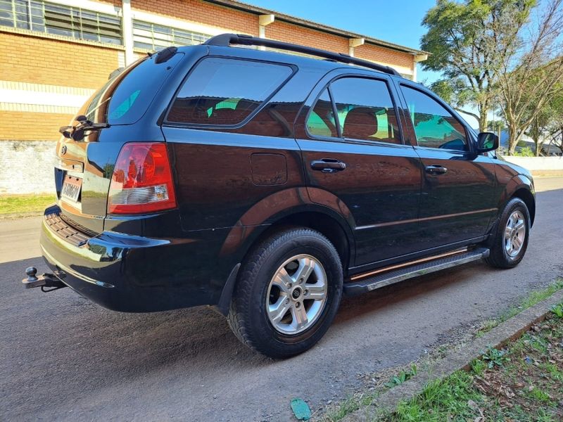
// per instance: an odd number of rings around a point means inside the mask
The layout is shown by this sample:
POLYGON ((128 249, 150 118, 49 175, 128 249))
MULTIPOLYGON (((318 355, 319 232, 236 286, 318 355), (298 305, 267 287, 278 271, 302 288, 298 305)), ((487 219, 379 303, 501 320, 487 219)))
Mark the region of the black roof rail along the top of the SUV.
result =
POLYGON ((355 58, 344 53, 333 53, 331 51, 313 49, 312 47, 300 46, 298 44, 290 44, 288 42, 276 41, 274 39, 265 39, 252 37, 251 35, 244 34, 220 34, 216 35, 205 41, 203 44, 208 46, 229 46, 230 44, 239 44, 244 46, 265 46, 272 49, 280 49, 287 51, 295 51, 296 53, 310 54, 311 56, 317 56, 322 58, 328 58, 330 60, 335 60, 341 63, 350 63, 353 65, 363 66, 364 68, 369 68, 373 70, 379 70, 379 72, 388 73, 389 75, 400 76, 393 68, 388 66, 379 65, 377 63, 372 63, 367 60, 362 60, 360 58, 355 58))

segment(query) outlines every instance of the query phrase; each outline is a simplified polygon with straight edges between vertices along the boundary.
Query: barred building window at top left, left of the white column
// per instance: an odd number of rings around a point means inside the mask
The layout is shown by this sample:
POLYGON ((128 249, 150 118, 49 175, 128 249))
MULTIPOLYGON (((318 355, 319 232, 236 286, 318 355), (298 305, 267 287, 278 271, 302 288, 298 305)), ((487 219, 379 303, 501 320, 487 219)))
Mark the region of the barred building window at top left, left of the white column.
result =
POLYGON ((0 0, 0 26, 122 44, 121 18, 41 0, 0 0))

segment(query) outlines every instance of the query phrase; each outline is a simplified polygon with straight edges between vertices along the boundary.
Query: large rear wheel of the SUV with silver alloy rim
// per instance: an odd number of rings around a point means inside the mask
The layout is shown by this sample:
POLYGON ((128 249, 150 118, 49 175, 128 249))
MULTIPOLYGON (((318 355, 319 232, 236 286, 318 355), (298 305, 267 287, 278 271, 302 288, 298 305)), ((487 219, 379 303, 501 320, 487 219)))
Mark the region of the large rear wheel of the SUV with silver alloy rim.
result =
POLYGON ((283 229, 243 262, 229 326, 257 352, 295 356, 327 332, 340 305, 342 283, 340 257, 327 238, 312 229, 283 229))

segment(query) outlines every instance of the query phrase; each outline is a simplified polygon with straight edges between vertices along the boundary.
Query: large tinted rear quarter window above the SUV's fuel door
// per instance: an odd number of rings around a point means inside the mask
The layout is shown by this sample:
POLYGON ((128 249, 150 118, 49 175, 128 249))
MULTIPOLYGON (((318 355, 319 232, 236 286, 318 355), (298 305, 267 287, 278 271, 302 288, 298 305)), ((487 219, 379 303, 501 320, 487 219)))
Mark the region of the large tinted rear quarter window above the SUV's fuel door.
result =
POLYGON ((184 82, 168 121, 237 124, 291 75, 284 65, 230 58, 205 58, 184 82))

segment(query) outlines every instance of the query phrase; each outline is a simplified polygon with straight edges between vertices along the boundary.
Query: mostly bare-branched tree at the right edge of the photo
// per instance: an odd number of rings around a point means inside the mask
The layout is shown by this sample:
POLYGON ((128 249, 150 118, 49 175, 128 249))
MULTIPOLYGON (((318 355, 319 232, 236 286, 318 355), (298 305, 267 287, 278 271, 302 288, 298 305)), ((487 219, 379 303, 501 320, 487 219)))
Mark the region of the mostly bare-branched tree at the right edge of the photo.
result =
POLYGON ((529 127, 539 139, 548 118, 542 113, 563 90, 563 0, 546 1, 535 18, 532 22, 518 13, 499 15, 491 24, 492 37, 483 46, 499 58, 495 74, 511 155, 529 127), (512 34, 506 27, 512 28, 512 34))

